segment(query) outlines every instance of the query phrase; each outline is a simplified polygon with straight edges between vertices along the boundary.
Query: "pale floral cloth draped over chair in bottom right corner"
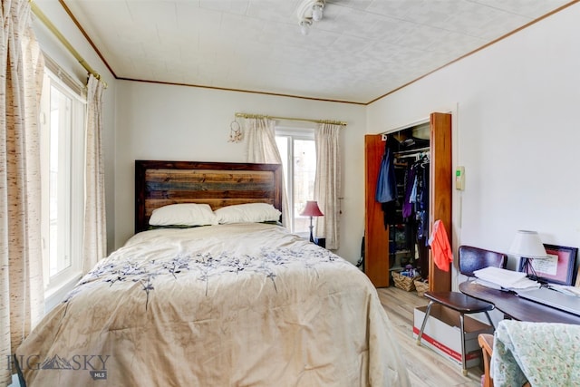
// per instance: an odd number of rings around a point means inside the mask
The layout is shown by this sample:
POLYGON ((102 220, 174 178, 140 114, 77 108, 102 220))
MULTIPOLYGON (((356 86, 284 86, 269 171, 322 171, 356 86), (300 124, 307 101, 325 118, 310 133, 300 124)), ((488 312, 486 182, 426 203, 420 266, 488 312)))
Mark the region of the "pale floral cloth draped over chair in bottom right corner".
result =
POLYGON ((490 368, 497 387, 580 386, 580 325, 502 320, 490 368))

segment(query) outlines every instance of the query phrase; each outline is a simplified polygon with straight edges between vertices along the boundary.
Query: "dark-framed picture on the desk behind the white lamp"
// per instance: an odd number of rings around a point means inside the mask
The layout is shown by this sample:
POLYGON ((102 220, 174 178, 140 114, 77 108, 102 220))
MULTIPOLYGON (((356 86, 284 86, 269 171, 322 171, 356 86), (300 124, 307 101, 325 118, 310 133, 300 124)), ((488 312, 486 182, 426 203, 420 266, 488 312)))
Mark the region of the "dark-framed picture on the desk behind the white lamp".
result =
MULTIPOLYGON (((574 281, 576 247, 565 247, 556 245, 546 245, 547 257, 542 259, 532 259, 531 266, 536 272, 537 281, 549 282, 552 284, 572 285, 574 281)), ((526 259, 520 259, 519 271, 524 272, 526 259)), ((576 281, 575 285, 580 285, 576 281)))

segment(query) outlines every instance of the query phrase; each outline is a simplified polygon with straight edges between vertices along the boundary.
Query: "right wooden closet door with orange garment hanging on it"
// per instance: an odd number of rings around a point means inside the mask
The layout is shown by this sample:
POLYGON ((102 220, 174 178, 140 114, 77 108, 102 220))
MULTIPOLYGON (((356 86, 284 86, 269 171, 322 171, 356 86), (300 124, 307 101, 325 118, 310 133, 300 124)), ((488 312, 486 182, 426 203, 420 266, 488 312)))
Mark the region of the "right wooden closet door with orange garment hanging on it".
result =
MULTIPOLYGON (((430 114, 430 231, 440 219, 451 244, 451 114, 430 114)), ((431 292, 451 290, 451 267, 440 270, 429 253, 429 288, 431 292)))

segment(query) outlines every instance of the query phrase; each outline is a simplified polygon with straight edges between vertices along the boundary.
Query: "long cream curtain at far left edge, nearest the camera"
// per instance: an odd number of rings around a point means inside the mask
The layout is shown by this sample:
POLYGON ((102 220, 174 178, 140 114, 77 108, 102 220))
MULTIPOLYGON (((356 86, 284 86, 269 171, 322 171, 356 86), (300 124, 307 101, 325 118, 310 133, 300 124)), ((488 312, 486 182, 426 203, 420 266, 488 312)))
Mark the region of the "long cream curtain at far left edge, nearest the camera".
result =
MULTIPOLYGON (((44 313, 38 111, 43 55, 28 0, 2 1, 0 42, 0 384, 44 313)), ((12 370, 11 370, 12 368, 12 370)))

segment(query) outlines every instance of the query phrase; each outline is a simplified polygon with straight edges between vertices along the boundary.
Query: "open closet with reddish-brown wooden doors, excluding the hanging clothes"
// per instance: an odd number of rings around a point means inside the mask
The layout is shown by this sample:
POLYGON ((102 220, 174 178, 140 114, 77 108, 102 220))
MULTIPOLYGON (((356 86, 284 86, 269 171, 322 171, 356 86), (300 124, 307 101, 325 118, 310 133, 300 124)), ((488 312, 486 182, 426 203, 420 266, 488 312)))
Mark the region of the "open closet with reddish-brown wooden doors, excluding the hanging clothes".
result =
MULTIPOLYGON (((429 278, 431 291, 445 291, 451 289, 451 272, 440 270, 433 264, 432 256, 425 241, 430 235, 433 222, 440 219, 451 236, 451 115, 447 113, 431 113, 430 121, 419 125, 405 128, 388 134, 388 140, 396 139, 401 144, 407 146, 411 144, 410 150, 401 150, 396 144, 387 144, 381 134, 366 135, 365 146, 365 229, 364 229, 364 272, 376 287, 390 285, 390 271, 401 270, 403 259, 411 259, 411 264, 420 265, 421 276, 429 278), (424 131, 423 131, 424 129, 424 131), (413 134, 415 133, 415 134, 413 134), (407 140, 405 140, 407 139, 407 140), (409 142, 411 141, 411 142, 409 142), (426 153, 428 155, 429 166, 422 164, 427 169, 423 181, 428 181, 426 187, 429 189, 429 204, 424 203, 425 208, 420 215, 420 235, 421 243, 417 248, 401 248, 399 241, 401 236, 404 242, 409 243, 417 236, 409 230, 416 229, 417 224, 410 222, 401 228, 401 211, 399 206, 406 202, 401 198, 401 190, 397 196, 397 208, 392 212, 389 206, 386 208, 375 198, 377 181, 381 169, 382 156, 385 153, 385 146, 395 150, 395 169, 401 169, 401 160, 409 157, 416 157, 415 153, 426 153), (411 153, 409 153, 411 152, 411 153), (401 159, 399 159, 401 158, 401 159), (427 179, 427 180, 425 180, 427 179), (429 209, 426 209, 429 208, 429 209), (386 212, 385 212, 386 210, 386 212), (399 211, 399 212, 397 212, 399 211), (422 215, 424 214, 424 216, 422 215), (397 227, 393 227, 397 224, 397 227), (388 225, 388 226, 385 226, 388 225), (404 232, 401 234, 401 230, 404 232), (392 234, 392 235, 390 235, 392 234), (427 234, 427 235, 425 235, 427 234), (416 259, 416 260, 415 260, 416 259)), ((422 158, 422 156, 421 156, 422 158)), ((409 165, 409 164, 406 164, 409 165)), ((397 182, 399 174, 397 174, 397 182)), ((400 184, 397 184, 401 186, 400 184)), ((427 196, 427 190, 425 190, 427 196)), ((391 208, 392 209, 392 208, 391 208)), ((405 208, 402 214, 405 216, 405 208)), ((409 215, 407 215, 409 217, 409 215)), ((450 238, 449 238, 450 244, 450 238)))

